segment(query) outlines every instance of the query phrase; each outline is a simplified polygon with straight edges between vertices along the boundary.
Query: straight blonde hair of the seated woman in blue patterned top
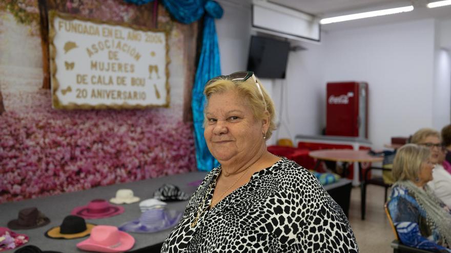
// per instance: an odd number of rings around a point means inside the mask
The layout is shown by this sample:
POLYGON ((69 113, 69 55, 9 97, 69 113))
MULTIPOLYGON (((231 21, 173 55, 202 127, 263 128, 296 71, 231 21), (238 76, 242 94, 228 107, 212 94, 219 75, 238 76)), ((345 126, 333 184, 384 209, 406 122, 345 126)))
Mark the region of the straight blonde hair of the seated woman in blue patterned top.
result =
POLYGON ((402 146, 395 155, 393 161, 393 179, 416 181, 420 174, 422 163, 430 156, 430 150, 416 144, 402 146))

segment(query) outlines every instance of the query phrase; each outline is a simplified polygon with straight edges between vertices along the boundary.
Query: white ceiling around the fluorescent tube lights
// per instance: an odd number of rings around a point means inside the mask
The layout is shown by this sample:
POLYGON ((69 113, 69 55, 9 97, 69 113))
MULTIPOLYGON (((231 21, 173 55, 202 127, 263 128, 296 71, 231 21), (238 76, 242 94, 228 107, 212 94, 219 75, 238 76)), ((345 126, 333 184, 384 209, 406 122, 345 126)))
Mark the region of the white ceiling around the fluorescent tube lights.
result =
POLYGON ((370 11, 384 8, 393 8, 413 4, 415 9, 411 12, 399 13, 387 16, 364 18, 344 21, 334 24, 322 25, 325 31, 343 30, 393 22, 409 21, 416 19, 435 18, 438 20, 451 18, 451 6, 429 9, 428 2, 437 0, 269 0, 270 2, 291 7, 303 12, 330 17, 353 12, 370 11))

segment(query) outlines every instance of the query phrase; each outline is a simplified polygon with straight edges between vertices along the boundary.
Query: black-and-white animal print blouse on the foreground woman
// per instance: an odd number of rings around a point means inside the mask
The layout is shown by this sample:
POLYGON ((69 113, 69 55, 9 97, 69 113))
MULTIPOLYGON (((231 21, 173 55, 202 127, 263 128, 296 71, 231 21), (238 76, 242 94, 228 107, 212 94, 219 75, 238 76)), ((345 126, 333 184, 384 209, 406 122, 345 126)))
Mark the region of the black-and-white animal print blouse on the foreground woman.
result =
POLYGON ((161 252, 358 252, 340 206, 292 160, 254 173, 210 209, 220 172, 207 174, 161 252))

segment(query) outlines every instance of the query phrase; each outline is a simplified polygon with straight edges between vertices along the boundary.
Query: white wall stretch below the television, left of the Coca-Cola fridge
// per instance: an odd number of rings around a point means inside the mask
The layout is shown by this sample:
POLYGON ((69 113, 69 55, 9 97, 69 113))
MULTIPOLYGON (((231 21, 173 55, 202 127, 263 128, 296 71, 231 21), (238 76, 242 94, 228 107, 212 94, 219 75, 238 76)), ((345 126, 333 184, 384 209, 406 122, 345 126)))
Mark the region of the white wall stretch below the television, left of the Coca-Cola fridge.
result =
POLYGON ((306 50, 290 53, 286 78, 274 86, 277 96, 273 99, 278 106, 281 104, 280 92, 284 91, 279 138, 318 135, 325 127, 324 47, 315 43, 299 44, 306 50))

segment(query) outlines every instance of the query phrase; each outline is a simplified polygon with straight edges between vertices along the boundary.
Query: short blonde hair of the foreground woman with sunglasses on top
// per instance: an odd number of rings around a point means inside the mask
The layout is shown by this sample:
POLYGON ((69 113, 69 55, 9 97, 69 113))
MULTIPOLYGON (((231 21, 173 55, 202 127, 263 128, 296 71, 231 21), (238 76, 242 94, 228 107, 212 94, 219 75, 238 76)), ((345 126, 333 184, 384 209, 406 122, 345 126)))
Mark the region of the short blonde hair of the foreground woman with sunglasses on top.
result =
MULTIPOLYGON (((261 93, 263 94, 263 98, 261 97, 260 91, 258 90, 255 82, 252 78, 242 82, 239 80, 228 80, 224 77, 218 77, 217 79, 213 79, 207 83, 203 90, 203 94, 207 97, 207 103, 204 109, 208 106, 208 101, 213 94, 216 93, 224 93, 229 90, 237 91, 240 96, 246 99, 251 107, 254 118, 257 120, 262 120, 265 117, 265 112, 269 113, 269 127, 267 132, 265 133, 265 140, 270 139, 273 130, 276 129, 276 125, 274 123, 275 119, 275 108, 274 102, 271 97, 268 95, 266 89, 261 85, 261 82, 257 79, 258 85, 260 85, 261 93), (265 108, 266 104, 266 108, 265 108)), ((205 121, 204 121, 205 124, 205 121)))

